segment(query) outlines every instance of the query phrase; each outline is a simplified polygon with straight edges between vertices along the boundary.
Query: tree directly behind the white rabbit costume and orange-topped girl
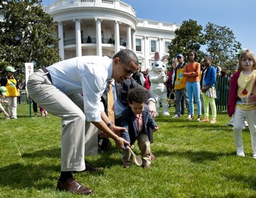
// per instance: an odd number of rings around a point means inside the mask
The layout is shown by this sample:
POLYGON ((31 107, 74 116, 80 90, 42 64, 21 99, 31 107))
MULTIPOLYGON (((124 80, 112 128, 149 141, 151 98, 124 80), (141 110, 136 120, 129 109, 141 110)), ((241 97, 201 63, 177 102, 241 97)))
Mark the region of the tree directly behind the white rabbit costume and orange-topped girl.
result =
POLYGON ((204 56, 204 52, 200 51, 200 47, 205 43, 204 34, 202 33, 202 26, 198 25, 196 20, 184 20, 180 28, 175 30, 175 34, 175 38, 168 46, 169 63, 178 53, 186 55, 191 49, 198 53, 198 57, 204 56))

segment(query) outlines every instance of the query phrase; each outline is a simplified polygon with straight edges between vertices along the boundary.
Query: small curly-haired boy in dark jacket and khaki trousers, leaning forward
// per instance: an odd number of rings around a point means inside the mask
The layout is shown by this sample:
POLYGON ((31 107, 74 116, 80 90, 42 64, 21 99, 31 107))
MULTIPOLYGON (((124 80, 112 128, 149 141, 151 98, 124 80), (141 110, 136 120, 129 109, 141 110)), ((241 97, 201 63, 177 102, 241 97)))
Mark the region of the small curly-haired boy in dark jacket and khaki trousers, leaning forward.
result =
MULTIPOLYGON (((147 103, 147 93, 143 88, 133 88, 128 94, 129 106, 123 110, 121 117, 121 127, 125 127, 128 131, 122 131, 121 137, 129 141, 133 145, 138 141, 139 150, 144 168, 151 166, 151 148, 149 142, 148 127, 153 131, 157 131, 157 123, 149 114, 147 103)), ((132 155, 128 149, 125 150, 125 158, 123 159, 123 168, 129 168, 132 162, 132 155)))

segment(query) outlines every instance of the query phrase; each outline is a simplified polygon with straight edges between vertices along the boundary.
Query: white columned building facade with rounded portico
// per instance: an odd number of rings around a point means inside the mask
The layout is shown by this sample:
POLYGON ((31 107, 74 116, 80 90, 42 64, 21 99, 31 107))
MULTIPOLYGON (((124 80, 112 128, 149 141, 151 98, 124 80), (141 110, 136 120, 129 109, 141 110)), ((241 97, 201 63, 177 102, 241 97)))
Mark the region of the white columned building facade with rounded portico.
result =
POLYGON ((151 69, 155 51, 168 53, 174 30, 180 25, 136 18, 131 5, 119 0, 57 0, 44 6, 58 22, 59 55, 108 55, 131 49, 142 70, 151 69))

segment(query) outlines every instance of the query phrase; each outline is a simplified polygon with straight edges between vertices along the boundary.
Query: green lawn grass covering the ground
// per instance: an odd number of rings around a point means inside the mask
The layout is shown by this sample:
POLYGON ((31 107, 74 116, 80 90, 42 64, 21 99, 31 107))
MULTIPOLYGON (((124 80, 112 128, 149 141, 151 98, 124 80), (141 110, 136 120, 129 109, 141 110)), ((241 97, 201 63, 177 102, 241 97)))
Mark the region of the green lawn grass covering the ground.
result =
MULTIPOLYGON (((171 115, 174 108, 170 108, 171 115)), ((2 114, 3 115, 3 114, 2 114)), ((19 119, 0 117, 0 197, 82 197, 56 189, 60 174, 60 118, 29 117, 18 106, 19 119)), ((244 158, 235 155, 233 131, 218 123, 188 121, 186 116, 156 118, 159 131, 151 150, 157 160, 149 170, 123 169, 114 147, 86 156, 102 172, 80 172, 76 180, 94 189, 92 197, 256 197, 256 160, 249 130, 243 131, 244 158)), ((113 143, 113 141, 112 141, 113 143)), ((138 147, 135 153, 139 154, 138 147)))

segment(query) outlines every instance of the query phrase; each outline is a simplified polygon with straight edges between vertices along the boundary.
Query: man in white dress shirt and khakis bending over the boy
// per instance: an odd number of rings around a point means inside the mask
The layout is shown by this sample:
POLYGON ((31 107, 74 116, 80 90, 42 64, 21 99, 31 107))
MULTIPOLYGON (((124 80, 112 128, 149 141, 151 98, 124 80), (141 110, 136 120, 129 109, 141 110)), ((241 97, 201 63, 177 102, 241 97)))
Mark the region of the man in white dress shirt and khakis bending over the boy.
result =
POLYGON ((138 65, 135 53, 124 49, 112 59, 84 56, 60 61, 39 69, 29 78, 27 89, 32 100, 50 114, 62 118, 61 174, 58 189, 78 194, 93 193, 92 189, 76 182, 72 176, 73 171, 79 172, 86 168, 86 121, 92 122, 111 137, 118 149, 129 145, 125 139, 114 133, 123 128, 108 123, 109 119, 103 113, 101 95, 109 79, 113 78, 117 82, 129 79, 138 65))

